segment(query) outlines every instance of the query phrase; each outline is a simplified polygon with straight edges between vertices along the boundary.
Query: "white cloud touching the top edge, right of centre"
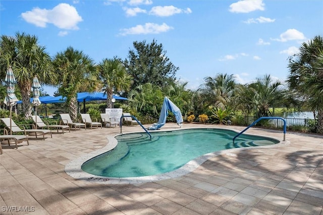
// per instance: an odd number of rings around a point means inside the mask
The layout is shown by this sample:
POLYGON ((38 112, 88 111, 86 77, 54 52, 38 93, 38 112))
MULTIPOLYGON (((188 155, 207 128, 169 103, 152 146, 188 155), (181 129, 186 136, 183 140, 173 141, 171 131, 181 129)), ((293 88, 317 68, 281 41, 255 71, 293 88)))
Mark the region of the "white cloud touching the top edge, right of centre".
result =
POLYGON ((264 3, 262 0, 243 0, 230 5, 229 11, 232 13, 249 13, 252 11, 263 11, 264 3))

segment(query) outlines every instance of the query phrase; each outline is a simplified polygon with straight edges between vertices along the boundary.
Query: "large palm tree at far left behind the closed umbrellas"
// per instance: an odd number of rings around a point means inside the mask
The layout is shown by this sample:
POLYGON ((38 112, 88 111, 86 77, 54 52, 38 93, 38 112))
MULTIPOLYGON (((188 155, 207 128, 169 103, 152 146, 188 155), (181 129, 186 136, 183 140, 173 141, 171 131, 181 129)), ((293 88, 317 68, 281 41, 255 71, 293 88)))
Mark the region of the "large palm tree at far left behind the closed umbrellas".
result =
POLYGON ((0 39, 0 69, 4 77, 7 68, 12 66, 22 95, 22 112, 31 116, 30 93, 33 77, 46 85, 55 86, 57 75, 53 70, 50 56, 45 46, 38 44, 34 35, 16 33, 15 37, 2 35, 0 39))

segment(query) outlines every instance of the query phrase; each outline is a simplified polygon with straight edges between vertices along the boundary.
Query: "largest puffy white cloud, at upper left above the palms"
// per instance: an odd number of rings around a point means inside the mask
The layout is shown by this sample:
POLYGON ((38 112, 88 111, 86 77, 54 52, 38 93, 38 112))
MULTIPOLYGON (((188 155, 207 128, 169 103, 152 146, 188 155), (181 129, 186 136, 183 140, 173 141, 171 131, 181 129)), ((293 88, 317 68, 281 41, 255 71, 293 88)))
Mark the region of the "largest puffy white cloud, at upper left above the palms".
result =
POLYGON ((73 6, 64 3, 51 10, 33 8, 21 16, 26 22, 42 28, 50 23, 61 29, 78 30, 77 24, 83 21, 73 6))

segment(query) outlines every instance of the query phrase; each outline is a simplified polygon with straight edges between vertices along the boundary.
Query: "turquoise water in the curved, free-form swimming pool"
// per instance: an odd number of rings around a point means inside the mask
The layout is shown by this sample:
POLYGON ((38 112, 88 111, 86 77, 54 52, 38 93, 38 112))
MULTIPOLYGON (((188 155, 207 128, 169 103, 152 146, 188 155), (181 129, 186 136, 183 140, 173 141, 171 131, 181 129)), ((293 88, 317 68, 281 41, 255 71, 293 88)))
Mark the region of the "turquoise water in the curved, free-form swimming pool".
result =
POLYGON ((82 170, 104 177, 126 178, 151 176, 174 171, 190 160, 214 151, 276 144, 279 141, 252 135, 241 135, 225 129, 186 129, 117 136, 113 150, 94 157, 82 165, 82 170))

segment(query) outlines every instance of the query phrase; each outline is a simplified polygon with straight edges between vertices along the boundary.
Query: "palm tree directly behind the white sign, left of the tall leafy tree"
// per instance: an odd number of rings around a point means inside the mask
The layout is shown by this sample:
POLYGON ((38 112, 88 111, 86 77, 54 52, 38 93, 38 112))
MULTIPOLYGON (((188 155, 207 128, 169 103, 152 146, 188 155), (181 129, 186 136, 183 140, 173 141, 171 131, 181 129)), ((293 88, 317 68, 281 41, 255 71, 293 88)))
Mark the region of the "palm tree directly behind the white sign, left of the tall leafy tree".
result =
POLYGON ((104 59, 97 66, 106 93, 106 106, 112 108, 113 93, 130 90, 132 77, 119 59, 104 59))

